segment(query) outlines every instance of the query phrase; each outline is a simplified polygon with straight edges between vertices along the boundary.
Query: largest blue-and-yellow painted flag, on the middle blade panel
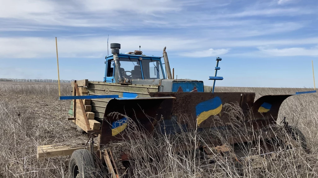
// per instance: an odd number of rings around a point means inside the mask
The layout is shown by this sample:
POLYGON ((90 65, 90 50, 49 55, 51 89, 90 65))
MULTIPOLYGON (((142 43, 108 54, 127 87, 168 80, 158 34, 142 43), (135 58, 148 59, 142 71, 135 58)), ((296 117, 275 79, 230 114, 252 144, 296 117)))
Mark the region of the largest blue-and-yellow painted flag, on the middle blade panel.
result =
POLYGON ((215 97, 203 101, 196 106, 197 124, 200 125, 210 116, 217 115, 222 110, 222 101, 220 97, 215 97))

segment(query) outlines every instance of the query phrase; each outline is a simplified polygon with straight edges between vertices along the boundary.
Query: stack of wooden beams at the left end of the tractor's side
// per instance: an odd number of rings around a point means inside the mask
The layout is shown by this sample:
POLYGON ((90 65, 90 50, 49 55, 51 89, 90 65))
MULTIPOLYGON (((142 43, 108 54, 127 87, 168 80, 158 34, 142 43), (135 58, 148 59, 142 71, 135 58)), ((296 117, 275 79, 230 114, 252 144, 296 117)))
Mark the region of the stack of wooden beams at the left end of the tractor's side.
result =
MULTIPOLYGON (((87 86, 88 86, 88 80, 78 80, 76 81, 77 86, 78 86, 78 91, 79 93, 77 95, 80 96, 86 96, 89 95, 89 92, 87 90, 87 86)), ((73 91, 75 90, 75 86, 74 86, 74 82, 72 82, 72 87, 73 87, 73 91)), ((73 92, 73 96, 75 95, 75 92, 73 92)), ((98 122, 97 120, 95 120, 95 113, 92 112, 92 106, 91 106, 91 100, 90 99, 82 99, 83 104, 84 104, 84 108, 85 109, 85 113, 86 113, 86 117, 88 119, 89 122, 89 126, 91 130, 100 130, 100 122, 98 122)), ((69 116, 75 118, 73 120, 73 122, 78 125, 81 129, 83 129, 85 132, 87 132, 87 127, 86 127, 86 122, 85 122, 85 117, 83 115, 83 111, 79 102, 79 99, 76 99, 75 101, 73 100, 71 102, 71 106, 70 106, 70 110, 69 110, 69 116), (75 116, 74 116, 75 113, 75 116)))

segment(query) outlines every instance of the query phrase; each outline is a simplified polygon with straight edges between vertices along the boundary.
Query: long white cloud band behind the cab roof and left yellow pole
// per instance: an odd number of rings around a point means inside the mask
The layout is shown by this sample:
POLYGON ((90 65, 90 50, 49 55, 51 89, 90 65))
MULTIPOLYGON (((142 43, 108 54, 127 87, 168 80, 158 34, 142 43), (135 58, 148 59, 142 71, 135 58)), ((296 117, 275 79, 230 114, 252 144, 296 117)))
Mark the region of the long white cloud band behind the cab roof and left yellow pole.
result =
MULTIPOLYGON (((121 52, 136 50, 139 45, 144 54, 156 52, 162 55, 163 47, 167 51, 188 50, 198 40, 188 40, 161 36, 111 36, 110 43, 121 43, 121 52)), ((41 58, 54 57, 55 38, 15 37, 0 38, 0 58, 41 58)), ((197 46, 200 47, 200 46, 197 46)), ((107 55, 107 37, 58 38, 59 57, 96 57, 107 55)))

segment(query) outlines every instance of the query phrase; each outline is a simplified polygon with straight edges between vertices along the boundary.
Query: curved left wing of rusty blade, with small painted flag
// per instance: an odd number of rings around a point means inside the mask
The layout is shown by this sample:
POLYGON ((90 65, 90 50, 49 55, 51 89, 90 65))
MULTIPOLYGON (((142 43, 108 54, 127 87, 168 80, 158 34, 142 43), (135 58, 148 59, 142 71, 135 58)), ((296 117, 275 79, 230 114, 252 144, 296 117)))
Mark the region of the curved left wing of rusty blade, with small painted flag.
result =
POLYGON ((118 98, 111 99, 106 107, 101 127, 100 144, 120 140, 130 118, 137 127, 152 132, 161 118, 171 118, 175 98, 118 98))

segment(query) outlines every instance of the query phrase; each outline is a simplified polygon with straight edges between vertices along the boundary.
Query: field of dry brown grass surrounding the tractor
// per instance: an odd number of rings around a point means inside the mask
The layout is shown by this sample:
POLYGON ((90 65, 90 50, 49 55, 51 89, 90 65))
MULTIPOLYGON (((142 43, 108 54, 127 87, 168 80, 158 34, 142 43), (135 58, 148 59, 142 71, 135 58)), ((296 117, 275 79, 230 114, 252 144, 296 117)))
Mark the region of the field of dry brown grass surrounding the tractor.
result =
MULTIPOLYGON (((216 92, 256 92, 256 98, 304 90, 309 89, 216 88, 216 92)), ((70 95, 70 86, 63 84, 61 94, 70 95)), ((149 138, 142 142, 128 140, 121 146, 137 157, 134 164, 138 177, 155 175, 147 169, 149 167, 161 170, 155 177, 318 177, 317 105, 316 93, 292 96, 283 102, 279 113, 280 119, 286 117, 304 133, 310 153, 301 149, 289 150, 263 161, 262 168, 258 169, 250 162, 243 163, 238 169, 233 160, 219 155, 199 162, 195 159, 197 152, 171 154, 171 142, 195 142, 202 138, 196 133, 181 135, 177 141, 171 141, 170 137, 149 138), (155 153, 160 153, 164 159, 160 164, 142 159, 151 156, 147 151, 140 152, 145 148, 155 148, 155 153), (209 159, 218 161, 212 166, 207 164, 209 159)), ((70 101, 58 100, 56 83, 0 82, 0 177, 67 177, 69 156, 37 160, 36 148, 46 144, 83 146, 86 143, 86 135, 77 132, 73 122, 67 121, 69 106, 70 101)))

